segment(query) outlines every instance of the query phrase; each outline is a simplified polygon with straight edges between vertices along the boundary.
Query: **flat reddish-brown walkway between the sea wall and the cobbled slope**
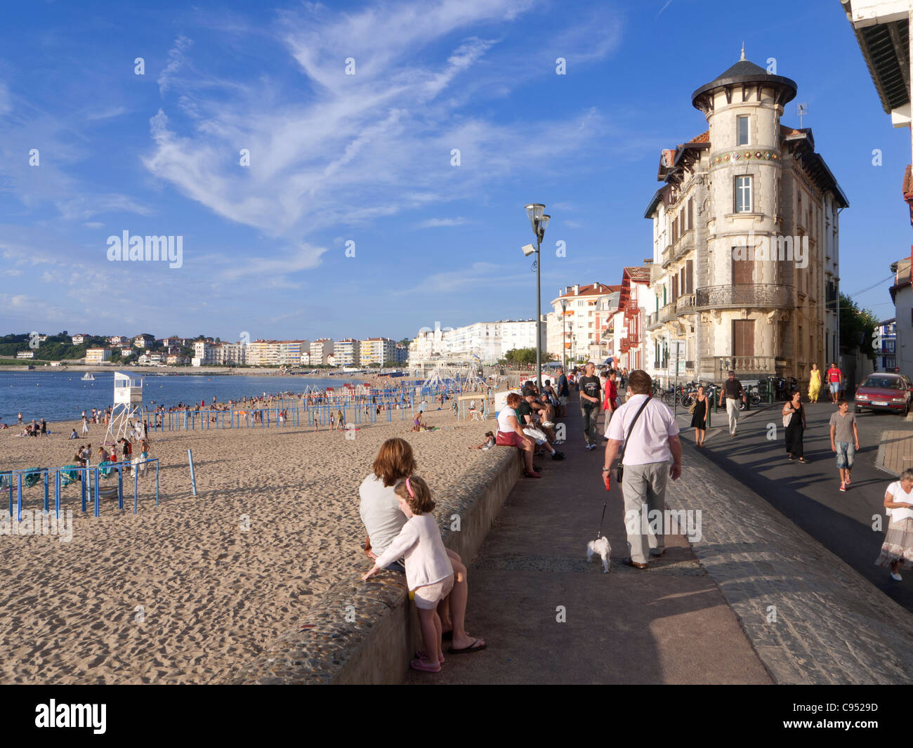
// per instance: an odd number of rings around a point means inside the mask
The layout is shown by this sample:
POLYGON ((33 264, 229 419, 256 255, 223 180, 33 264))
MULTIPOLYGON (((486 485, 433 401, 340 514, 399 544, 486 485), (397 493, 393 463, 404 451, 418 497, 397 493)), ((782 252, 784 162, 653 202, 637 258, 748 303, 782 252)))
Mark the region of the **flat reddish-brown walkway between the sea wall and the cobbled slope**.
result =
POLYGON ((441 673, 407 682, 770 683, 683 536, 647 571, 621 563, 621 493, 605 491, 603 451, 583 449, 577 406, 566 422, 567 459, 543 459, 542 479, 520 479, 470 565, 467 627, 488 649, 445 655, 441 673), (609 574, 586 561, 604 501, 609 574))

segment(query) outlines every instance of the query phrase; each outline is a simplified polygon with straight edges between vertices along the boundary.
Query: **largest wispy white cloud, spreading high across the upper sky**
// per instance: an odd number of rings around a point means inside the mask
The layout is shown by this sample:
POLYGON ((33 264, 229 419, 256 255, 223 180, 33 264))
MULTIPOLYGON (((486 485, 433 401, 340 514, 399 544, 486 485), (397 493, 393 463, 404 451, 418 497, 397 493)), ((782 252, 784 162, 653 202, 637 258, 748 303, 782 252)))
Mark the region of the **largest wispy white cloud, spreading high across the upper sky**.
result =
MULTIPOLYGON (((475 197, 533 164, 537 175, 548 174, 550 162, 580 154, 599 138, 605 123, 598 111, 496 122, 478 116, 477 100, 465 96, 501 76, 497 64, 486 64, 498 53, 498 40, 471 34, 474 27, 504 26, 532 5, 445 0, 346 14, 312 4, 281 11, 275 34, 307 93, 290 97, 275 79, 220 89, 215 80, 201 87, 198 78, 170 77, 166 90, 193 126, 169 116, 163 104, 151 120, 153 148, 143 163, 215 214, 289 243, 325 228, 475 197), (460 34, 467 36, 449 42, 460 34), (449 52, 441 55, 439 45, 450 45, 449 52), (354 75, 346 75, 350 57, 354 75), (250 153, 247 167, 226 158, 241 148, 250 153), (451 165, 453 149, 460 151, 459 166, 451 165)), ((593 51, 592 38, 605 34, 587 33, 567 36, 566 44, 582 57, 604 54, 602 41, 593 51)), ((195 69, 187 47, 174 52, 169 67, 195 69)), ((515 53, 505 55, 519 64, 515 53)), ((543 68, 542 75, 549 72, 543 68)))

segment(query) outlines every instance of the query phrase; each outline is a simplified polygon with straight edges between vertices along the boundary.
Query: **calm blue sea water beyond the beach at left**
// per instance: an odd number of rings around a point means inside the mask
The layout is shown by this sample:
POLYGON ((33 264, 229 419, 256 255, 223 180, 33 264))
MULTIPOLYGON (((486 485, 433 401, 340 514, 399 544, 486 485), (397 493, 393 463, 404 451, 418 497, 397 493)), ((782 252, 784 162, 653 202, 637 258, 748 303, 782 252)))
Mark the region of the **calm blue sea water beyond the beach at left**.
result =
MULTIPOLYGON (((106 408, 114 399, 114 374, 96 373, 94 382, 82 382, 82 372, 0 372, 0 416, 6 424, 22 420, 48 421, 79 419, 84 410, 106 408)), ((139 377, 140 374, 133 374, 139 377)), ((178 403, 206 405, 215 396, 218 402, 240 400, 252 395, 278 392, 304 392, 307 387, 339 387, 357 382, 342 376, 304 378, 300 376, 244 376, 205 374, 142 377, 142 403, 146 406, 176 406, 178 403)))

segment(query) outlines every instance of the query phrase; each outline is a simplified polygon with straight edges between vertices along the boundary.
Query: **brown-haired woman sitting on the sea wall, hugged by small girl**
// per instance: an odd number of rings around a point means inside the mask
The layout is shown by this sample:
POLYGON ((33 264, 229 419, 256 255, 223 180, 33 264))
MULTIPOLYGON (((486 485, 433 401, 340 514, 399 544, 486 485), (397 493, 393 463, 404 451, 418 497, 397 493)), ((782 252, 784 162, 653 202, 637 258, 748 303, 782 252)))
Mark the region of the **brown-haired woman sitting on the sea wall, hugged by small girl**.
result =
MULTIPOLYGON (((400 481, 409 478, 416 469, 415 456, 409 442, 398 437, 387 439, 381 445, 372 469, 373 472, 362 480, 358 493, 361 498, 359 513, 364 529, 368 532, 364 553, 376 561, 393 543, 407 519, 399 509, 395 489, 400 481)), ((454 588, 437 606, 437 614, 441 619, 444 637, 453 638, 453 646, 447 651, 450 654, 477 652, 486 648, 486 644, 484 639, 470 636, 465 628, 469 595, 466 566, 455 551, 447 548, 446 553, 453 565, 454 588)), ((399 561, 394 561, 386 568, 401 573, 405 571, 399 561)))

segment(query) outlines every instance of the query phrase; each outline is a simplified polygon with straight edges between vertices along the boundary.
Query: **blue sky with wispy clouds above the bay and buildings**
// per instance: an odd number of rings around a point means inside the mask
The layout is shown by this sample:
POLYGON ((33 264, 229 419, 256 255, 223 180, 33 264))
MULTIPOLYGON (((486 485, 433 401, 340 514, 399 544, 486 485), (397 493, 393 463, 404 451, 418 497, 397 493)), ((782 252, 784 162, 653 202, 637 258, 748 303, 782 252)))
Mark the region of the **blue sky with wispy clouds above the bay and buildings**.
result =
MULTIPOLYGON (((660 149, 707 129, 690 94, 743 41, 797 82, 782 122, 808 102, 850 202, 842 290, 885 279, 909 253, 909 131, 838 0, 19 5, 0 29, 0 332, 399 339, 531 318, 523 205, 551 214, 546 304, 619 283, 651 254, 660 149), (123 231, 183 237, 183 266, 110 262, 123 231)), ((855 299, 893 316, 888 286, 855 299)))

